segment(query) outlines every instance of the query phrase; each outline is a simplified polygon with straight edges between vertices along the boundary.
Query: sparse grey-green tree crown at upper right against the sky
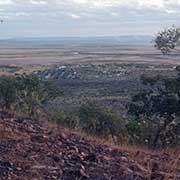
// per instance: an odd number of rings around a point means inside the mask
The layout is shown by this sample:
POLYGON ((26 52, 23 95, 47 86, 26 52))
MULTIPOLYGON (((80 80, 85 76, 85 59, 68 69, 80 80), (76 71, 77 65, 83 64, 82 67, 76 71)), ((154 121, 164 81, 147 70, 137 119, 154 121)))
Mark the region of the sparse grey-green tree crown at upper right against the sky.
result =
MULTIPOLYGON (((159 32, 155 38, 155 47, 165 55, 180 46, 180 28, 172 26, 159 32)), ((178 50, 179 51, 179 50, 178 50)))

